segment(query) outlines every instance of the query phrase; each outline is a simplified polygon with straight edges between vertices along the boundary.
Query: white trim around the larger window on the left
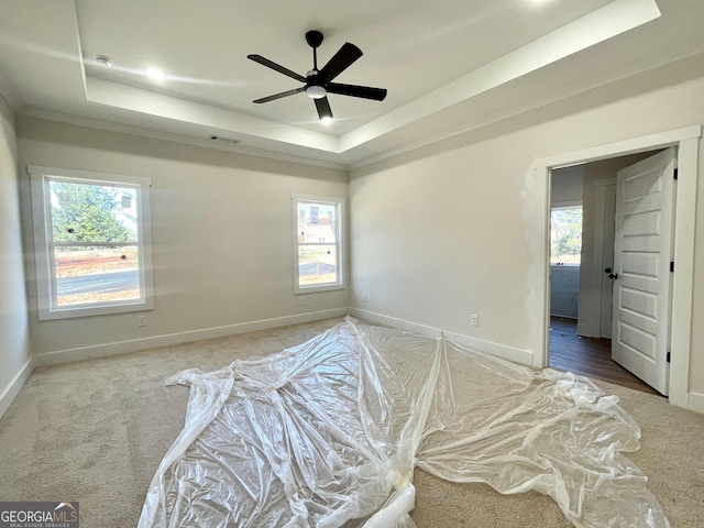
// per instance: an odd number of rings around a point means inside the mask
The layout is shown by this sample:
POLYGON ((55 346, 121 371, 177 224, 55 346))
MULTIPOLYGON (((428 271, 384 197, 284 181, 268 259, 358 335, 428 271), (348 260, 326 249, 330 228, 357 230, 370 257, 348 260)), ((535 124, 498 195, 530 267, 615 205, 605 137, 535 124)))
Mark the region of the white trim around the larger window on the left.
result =
POLYGON ((36 271, 36 297, 40 320, 68 319, 75 317, 123 314, 154 309, 154 286, 152 278, 152 230, 150 187, 151 179, 136 176, 122 176, 88 170, 29 165, 32 193, 32 221, 34 235, 34 261, 36 271), (138 187, 138 248, 140 254, 140 285, 142 297, 110 304, 85 304, 80 306, 54 306, 55 280, 50 256, 51 198, 47 193, 48 177, 57 176, 113 185, 134 185, 138 187))

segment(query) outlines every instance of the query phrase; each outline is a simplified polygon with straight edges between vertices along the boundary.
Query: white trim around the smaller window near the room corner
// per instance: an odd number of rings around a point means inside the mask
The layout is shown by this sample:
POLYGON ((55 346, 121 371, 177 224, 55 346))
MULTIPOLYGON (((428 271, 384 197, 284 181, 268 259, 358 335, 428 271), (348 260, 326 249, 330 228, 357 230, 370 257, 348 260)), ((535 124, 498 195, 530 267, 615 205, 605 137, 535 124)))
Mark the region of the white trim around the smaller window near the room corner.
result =
POLYGON ((294 294, 310 294, 315 292, 331 292, 336 289, 346 288, 346 252, 345 252, 345 229, 346 229, 346 200, 339 197, 330 196, 316 196, 316 195, 302 195, 292 194, 292 211, 293 211, 293 237, 294 237, 294 294), (301 286, 299 280, 299 266, 298 266, 298 204, 324 204, 336 206, 338 208, 339 221, 337 222, 337 253, 338 253, 338 282, 326 284, 311 284, 301 286))

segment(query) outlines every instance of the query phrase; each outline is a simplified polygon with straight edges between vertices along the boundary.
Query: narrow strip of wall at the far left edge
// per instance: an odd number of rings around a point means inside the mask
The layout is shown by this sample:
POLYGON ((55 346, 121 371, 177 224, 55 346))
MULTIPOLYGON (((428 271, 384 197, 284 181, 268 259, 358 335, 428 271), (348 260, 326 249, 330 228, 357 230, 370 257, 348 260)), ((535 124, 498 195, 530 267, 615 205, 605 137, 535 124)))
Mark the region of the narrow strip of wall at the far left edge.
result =
POLYGON ((0 96, 0 416, 31 373, 15 118, 0 96))

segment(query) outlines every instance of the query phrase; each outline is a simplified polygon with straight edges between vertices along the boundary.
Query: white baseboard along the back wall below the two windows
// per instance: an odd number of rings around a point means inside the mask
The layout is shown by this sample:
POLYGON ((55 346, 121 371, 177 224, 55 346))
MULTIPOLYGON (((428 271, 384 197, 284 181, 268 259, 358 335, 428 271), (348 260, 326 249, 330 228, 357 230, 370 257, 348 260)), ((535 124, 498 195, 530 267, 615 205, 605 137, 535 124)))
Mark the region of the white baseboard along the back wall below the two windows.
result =
POLYGON ((77 349, 56 350, 36 354, 34 356, 34 366, 54 365, 58 363, 68 363, 72 361, 124 354, 127 352, 136 352, 138 350, 153 349, 156 346, 188 343, 191 341, 200 341, 204 339, 223 338, 227 336, 235 336, 239 333, 255 332, 257 330, 267 330, 270 328, 287 327, 289 324, 300 324, 302 322, 319 321, 332 317, 343 317, 348 314, 349 309, 344 307, 336 308, 332 310, 312 311, 296 316, 239 322, 235 324, 191 330, 188 332, 169 333, 164 336, 154 336, 151 338, 119 341, 114 343, 95 344, 90 346, 80 346, 77 349))

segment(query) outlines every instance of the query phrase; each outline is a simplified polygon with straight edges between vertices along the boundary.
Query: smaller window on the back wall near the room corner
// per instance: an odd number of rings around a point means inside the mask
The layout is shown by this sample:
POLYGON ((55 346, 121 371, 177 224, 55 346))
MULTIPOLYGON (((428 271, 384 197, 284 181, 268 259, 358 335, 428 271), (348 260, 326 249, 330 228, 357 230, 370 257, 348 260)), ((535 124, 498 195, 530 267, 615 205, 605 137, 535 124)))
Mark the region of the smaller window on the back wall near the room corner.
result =
POLYGON ((295 293, 344 288, 344 200, 294 195, 295 293))

